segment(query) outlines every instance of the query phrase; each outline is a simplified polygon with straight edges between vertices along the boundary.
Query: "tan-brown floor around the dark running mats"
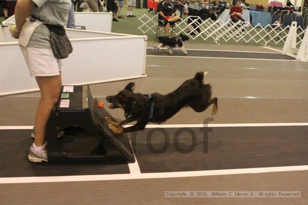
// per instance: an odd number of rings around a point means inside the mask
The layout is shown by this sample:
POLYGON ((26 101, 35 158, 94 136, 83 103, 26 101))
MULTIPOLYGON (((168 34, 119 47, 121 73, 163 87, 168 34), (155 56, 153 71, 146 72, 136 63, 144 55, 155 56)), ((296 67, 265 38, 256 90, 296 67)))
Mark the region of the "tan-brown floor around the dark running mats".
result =
MULTIPOLYGON (((150 44, 149 44, 150 46, 150 44)), ((260 47, 210 46, 217 50, 271 52, 260 47)), ((191 49, 207 49, 194 46, 191 49)), ((308 121, 308 66, 297 61, 187 59, 147 57, 148 77, 91 85, 91 92, 118 93, 134 81, 136 92, 168 93, 197 71, 218 97, 213 124, 308 121)), ((65 81, 65 79, 64 79, 65 81)), ((0 126, 33 125, 38 92, 0 97, 0 126)), ((108 105, 106 103, 106 105, 108 105)), ((108 109, 108 108, 107 108, 108 109)), ((123 119, 123 111, 109 110, 123 119)), ((195 113, 185 108, 165 124, 203 124, 211 108, 195 113)), ((304 139, 308 142, 308 138, 304 139)), ((12 151, 15 152, 16 150, 12 151)), ((5 157, 5 156, 1 156, 5 157)), ((168 179, 86 182, 18 183, 0 185, 0 204, 307 204, 308 171, 238 174, 168 179), (164 191, 301 191, 301 198, 165 198, 164 191)))

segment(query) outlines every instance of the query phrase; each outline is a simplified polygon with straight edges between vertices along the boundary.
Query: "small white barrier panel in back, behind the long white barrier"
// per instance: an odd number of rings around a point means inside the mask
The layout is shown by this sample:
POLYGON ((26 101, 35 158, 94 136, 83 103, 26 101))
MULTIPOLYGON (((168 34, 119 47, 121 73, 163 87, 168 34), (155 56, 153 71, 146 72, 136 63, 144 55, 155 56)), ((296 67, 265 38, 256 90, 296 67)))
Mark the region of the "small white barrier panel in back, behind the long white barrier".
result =
POLYGON ((75 25, 85 26, 86 30, 111 32, 112 13, 75 12, 75 25))

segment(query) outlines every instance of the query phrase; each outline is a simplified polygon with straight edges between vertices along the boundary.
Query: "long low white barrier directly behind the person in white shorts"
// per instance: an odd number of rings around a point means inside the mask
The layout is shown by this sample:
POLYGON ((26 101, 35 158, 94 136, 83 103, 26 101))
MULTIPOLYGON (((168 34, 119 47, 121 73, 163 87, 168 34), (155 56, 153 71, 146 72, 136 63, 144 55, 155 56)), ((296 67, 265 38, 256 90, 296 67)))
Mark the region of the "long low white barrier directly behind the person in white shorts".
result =
MULTIPOLYGON (((146 36, 67 29, 73 52, 63 60, 64 85, 146 77, 146 36), (95 37, 89 38, 90 34, 95 37), (101 35, 100 35, 101 34, 101 35), (106 37, 107 36, 107 37, 106 37)), ((16 42, 0 43, 0 96, 37 91, 16 42)))

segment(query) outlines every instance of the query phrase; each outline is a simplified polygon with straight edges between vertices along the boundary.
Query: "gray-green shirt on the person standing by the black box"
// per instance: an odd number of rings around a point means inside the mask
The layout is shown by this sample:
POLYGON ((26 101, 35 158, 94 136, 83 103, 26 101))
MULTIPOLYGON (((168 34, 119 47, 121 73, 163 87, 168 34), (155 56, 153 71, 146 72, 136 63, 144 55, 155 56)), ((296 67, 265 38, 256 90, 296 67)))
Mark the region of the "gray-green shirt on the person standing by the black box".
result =
MULTIPOLYGON (((42 20, 46 24, 66 26, 71 0, 32 0, 35 6, 30 15, 42 20)), ((47 48, 50 46, 50 33, 45 25, 38 26, 33 32, 28 47, 47 48)))

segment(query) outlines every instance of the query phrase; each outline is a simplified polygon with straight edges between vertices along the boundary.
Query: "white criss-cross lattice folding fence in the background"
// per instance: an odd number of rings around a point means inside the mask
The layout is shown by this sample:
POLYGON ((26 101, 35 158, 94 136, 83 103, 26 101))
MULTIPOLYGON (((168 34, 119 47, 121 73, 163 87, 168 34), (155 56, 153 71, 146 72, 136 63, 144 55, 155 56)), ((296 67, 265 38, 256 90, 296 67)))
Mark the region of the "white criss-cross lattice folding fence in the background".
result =
MULTIPOLYGON (((150 32, 156 34, 158 25, 157 16, 144 14, 139 20, 142 25, 138 29, 142 33, 150 32)), ((268 24, 266 27, 261 28, 260 24, 252 26, 249 22, 245 24, 242 22, 234 23, 232 20, 223 22, 221 19, 211 20, 210 18, 202 20, 200 16, 188 16, 176 23, 175 34, 179 35, 180 33, 184 33, 192 40, 196 38, 202 38, 203 40, 211 38, 216 44, 219 44, 220 40, 224 40, 225 42, 234 40, 235 42, 254 42, 268 46, 269 43, 285 43, 289 29, 290 26, 284 27, 283 25, 268 24), (189 24, 188 19, 191 20, 189 24), (195 28, 192 28, 192 25, 195 25, 195 28), (191 35, 191 33, 196 35, 191 35)), ((301 43, 304 33, 304 28, 297 28, 296 37, 298 40, 296 45, 301 43)))

